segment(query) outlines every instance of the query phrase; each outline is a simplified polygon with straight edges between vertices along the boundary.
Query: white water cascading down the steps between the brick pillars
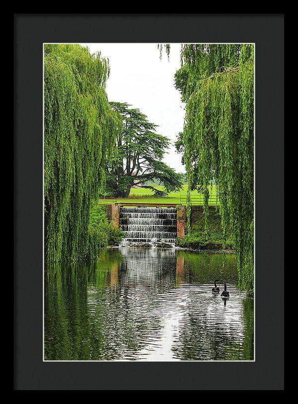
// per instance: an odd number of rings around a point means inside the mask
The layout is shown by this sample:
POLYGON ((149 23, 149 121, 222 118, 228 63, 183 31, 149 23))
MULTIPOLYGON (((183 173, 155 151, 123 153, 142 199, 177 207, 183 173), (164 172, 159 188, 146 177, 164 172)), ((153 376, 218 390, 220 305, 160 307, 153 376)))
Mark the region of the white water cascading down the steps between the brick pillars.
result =
POLYGON ((175 244, 175 208, 121 207, 119 227, 125 234, 122 245, 132 243, 175 244))

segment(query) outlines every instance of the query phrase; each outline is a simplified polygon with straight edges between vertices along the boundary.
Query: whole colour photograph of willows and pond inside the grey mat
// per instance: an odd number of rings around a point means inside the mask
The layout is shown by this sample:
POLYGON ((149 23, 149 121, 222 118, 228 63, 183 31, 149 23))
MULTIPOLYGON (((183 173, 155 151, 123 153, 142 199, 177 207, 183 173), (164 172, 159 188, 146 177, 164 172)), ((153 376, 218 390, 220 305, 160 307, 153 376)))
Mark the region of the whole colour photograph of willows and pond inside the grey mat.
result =
POLYGON ((254 361, 254 44, 44 44, 44 360, 254 361))

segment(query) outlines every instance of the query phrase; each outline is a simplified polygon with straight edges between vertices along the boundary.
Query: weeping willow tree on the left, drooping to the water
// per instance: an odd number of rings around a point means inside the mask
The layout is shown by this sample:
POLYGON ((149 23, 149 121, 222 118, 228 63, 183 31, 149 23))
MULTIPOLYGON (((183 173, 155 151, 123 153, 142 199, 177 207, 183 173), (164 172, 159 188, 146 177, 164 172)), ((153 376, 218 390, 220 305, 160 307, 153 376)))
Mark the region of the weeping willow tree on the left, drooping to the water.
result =
POLYGON ((89 210, 121 117, 108 103, 109 66, 72 44, 44 46, 44 246, 49 261, 89 258, 89 210))

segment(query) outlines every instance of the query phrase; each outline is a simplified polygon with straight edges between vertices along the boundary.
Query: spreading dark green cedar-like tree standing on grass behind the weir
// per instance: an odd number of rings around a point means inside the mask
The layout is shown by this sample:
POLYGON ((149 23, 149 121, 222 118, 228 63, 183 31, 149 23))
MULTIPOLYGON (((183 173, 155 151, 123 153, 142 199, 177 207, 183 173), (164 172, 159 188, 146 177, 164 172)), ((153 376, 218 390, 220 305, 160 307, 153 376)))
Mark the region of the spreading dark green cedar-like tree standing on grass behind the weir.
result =
POLYGON ((122 115, 122 133, 117 137, 117 150, 106 167, 107 192, 115 197, 128 197, 134 185, 154 190, 157 196, 178 191, 183 176, 161 160, 169 148, 169 139, 155 132, 156 125, 147 120, 139 109, 130 109, 127 103, 110 102, 111 107, 122 115), (154 181, 163 186, 162 190, 154 181))

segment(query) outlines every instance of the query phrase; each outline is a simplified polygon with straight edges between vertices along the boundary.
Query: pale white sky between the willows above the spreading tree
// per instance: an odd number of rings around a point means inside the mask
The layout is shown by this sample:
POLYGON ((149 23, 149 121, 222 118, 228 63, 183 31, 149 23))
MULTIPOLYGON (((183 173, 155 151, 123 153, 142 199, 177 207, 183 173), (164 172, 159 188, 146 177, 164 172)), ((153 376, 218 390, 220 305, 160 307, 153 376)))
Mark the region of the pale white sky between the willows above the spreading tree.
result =
POLYGON ((158 125, 156 133, 170 139, 171 147, 163 162, 176 172, 185 172, 174 142, 183 130, 184 104, 174 87, 174 74, 180 69, 180 44, 170 44, 159 58, 155 43, 81 43, 90 53, 100 51, 109 60, 110 77, 106 84, 109 101, 127 102, 139 109, 148 121, 158 125))

